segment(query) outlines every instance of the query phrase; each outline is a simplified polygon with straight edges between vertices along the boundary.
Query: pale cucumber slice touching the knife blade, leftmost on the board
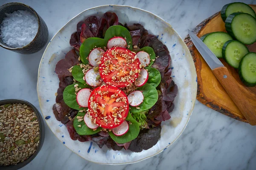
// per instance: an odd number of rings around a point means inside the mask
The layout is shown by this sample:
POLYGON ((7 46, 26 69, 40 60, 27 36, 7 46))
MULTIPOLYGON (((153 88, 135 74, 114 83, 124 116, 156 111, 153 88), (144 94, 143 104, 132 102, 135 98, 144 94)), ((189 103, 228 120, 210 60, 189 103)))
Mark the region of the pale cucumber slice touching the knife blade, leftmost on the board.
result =
POLYGON ((200 38, 207 47, 215 54, 216 57, 222 57, 222 47, 228 40, 233 40, 233 38, 226 32, 212 32, 205 34, 200 38))

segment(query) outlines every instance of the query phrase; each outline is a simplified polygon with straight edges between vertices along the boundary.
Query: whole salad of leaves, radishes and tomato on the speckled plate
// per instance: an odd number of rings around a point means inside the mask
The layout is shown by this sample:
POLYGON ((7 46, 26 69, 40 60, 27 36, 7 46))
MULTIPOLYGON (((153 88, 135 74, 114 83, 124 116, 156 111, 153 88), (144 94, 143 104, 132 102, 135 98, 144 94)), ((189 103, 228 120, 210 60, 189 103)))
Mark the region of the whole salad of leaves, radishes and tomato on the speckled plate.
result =
POLYGON ((153 147, 177 95, 167 47, 112 12, 79 22, 70 45, 55 68, 60 83, 52 109, 71 139, 113 150, 153 147))

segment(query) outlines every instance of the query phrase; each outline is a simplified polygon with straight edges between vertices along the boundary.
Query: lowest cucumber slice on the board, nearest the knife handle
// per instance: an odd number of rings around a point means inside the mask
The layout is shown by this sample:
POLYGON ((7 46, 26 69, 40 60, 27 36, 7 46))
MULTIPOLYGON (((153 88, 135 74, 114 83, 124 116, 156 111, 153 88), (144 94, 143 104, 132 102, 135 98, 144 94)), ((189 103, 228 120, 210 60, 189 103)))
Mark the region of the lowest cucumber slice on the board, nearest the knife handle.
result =
POLYGON ((256 85, 256 53, 248 53, 241 59, 239 77, 248 87, 256 85))

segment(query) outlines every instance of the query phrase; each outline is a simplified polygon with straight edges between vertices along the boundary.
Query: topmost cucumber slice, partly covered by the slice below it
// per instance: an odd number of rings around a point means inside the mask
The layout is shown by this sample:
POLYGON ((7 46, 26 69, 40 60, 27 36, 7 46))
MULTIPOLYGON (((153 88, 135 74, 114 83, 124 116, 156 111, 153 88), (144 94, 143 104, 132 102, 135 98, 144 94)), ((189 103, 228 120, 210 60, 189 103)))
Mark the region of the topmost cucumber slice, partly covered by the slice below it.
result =
POLYGON ((255 11, 253 8, 245 3, 228 3, 221 9, 221 18, 225 22, 227 17, 234 12, 243 12, 252 15, 256 18, 255 11))

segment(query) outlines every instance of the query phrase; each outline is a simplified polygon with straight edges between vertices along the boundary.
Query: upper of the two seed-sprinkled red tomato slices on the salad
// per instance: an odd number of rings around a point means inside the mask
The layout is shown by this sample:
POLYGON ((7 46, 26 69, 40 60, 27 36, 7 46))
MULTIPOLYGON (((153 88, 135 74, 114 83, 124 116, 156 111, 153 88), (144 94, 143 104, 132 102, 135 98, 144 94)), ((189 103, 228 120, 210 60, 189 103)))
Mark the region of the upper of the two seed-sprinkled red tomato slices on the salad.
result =
POLYGON ((138 77, 141 64, 136 53, 122 47, 110 48, 99 64, 99 74, 108 85, 121 88, 131 85, 138 77))

